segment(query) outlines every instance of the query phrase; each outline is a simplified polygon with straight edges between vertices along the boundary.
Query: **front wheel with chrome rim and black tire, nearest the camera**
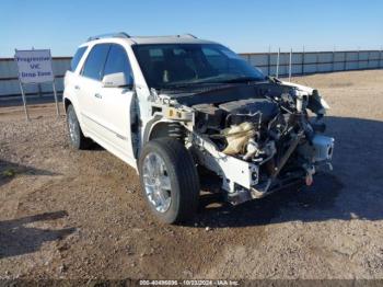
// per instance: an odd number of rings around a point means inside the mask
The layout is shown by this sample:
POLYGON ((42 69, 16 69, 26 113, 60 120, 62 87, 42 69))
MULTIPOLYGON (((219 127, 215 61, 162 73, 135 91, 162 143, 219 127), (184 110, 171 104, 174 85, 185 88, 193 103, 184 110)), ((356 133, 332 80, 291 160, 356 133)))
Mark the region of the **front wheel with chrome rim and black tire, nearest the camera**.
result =
POLYGON ((160 221, 179 223, 193 219, 198 207, 199 177, 190 153, 178 140, 149 141, 138 168, 143 196, 160 221))

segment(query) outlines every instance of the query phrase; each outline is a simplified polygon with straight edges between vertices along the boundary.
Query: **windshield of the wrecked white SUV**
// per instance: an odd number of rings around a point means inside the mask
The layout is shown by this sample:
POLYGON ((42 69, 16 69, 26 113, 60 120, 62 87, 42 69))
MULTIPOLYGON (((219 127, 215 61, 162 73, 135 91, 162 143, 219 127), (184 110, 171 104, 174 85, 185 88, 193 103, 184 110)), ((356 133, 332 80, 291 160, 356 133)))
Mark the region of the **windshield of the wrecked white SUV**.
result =
POLYGON ((150 88, 265 80, 260 70, 219 44, 136 45, 134 51, 150 88))

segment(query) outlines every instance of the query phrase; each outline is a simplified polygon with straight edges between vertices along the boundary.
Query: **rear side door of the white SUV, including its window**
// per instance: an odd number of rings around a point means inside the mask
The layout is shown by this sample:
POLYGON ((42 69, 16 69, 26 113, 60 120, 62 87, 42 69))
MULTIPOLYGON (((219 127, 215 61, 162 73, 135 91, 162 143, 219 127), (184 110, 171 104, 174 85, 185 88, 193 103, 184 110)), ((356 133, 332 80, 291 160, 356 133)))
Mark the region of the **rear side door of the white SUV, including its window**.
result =
POLYGON ((85 62, 80 71, 80 77, 74 85, 78 101, 81 106, 81 119, 83 128, 93 138, 102 133, 101 115, 97 111, 102 77, 109 51, 109 44, 96 44, 88 54, 85 62))

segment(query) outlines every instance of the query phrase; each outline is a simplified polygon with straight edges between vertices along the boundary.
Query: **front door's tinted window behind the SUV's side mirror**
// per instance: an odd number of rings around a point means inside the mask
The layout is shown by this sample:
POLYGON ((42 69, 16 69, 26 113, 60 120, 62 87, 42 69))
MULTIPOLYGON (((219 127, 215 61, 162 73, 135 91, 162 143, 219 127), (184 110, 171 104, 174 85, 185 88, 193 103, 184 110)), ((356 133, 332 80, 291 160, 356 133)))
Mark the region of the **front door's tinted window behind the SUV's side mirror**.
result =
POLYGON ((104 76, 124 72, 128 84, 132 84, 132 74, 126 50, 123 46, 112 45, 104 68, 104 76))

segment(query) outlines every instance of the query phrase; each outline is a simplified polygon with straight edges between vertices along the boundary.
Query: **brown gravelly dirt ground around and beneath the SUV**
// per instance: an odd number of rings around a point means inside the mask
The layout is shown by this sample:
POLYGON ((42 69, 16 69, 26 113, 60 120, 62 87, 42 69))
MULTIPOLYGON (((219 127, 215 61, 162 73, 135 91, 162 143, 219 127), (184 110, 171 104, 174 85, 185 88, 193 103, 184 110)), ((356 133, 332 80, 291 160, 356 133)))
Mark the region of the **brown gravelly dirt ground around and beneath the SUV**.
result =
POLYGON ((332 110, 314 186, 158 223, 136 172, 70 149, 53 104, 0 107, 1 278, 383 278, 383 70, 293 79, 332 110), (208 228, 207 228, 208 227, 208 228))

